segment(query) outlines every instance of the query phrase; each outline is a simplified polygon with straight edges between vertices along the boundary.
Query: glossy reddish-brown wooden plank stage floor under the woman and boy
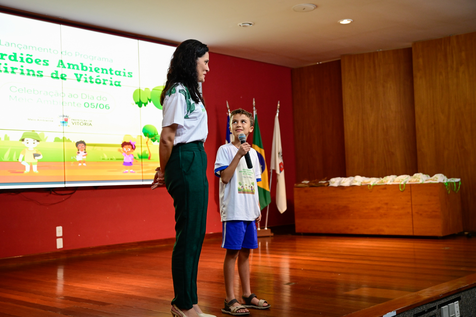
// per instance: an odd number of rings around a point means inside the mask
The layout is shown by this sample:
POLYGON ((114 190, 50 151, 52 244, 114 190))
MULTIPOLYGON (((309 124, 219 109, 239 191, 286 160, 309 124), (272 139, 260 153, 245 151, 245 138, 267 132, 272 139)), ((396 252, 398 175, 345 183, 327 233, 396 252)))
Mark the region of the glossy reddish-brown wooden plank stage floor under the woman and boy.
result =
MULTIPOLYGON (((229 316, 220 311, 220 242, 203 245, 198 304, 229 316)), ((0 316, 169 317, 171 250, 169 244, 0 266, 0 316)), ((252 292, 272 307, 249 316, 378 317, 475 286, 476 238, 277 235, 259 238, 250 265, 252 292)))

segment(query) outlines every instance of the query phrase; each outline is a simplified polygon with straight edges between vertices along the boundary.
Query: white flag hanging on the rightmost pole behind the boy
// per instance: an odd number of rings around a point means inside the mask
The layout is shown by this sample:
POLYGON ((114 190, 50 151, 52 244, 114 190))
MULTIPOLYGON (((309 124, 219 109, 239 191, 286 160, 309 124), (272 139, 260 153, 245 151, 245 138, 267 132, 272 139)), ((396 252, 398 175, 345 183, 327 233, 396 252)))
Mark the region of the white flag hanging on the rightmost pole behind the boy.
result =
POLYGON ((271 147, 271 170, 276 171, 276 206, 280 213, 288 208, 286 203, 286 186, 284 182, 283 149, 281 147, 281 131, 278 113, 274 118, 273 145, 271 147))

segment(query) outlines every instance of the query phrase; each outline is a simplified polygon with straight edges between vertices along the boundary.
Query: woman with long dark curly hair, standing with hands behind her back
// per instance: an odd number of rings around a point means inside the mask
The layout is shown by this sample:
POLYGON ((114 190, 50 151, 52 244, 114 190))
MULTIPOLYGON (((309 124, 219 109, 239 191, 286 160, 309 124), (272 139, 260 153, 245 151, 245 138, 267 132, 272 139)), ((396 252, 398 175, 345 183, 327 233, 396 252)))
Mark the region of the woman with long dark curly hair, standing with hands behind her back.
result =
POLYGON ((198 91, 208 72, 208 47, 198 40, 178 45, 160 95, 163 105, 159 140, 160 167, 152 189, 166 184, 174 199, 176 241, 172 251, 175 298, 170 311, 177 317, 214 317, 198 307, 198 259, 205 237, 208 206, 207 111, 198 91))

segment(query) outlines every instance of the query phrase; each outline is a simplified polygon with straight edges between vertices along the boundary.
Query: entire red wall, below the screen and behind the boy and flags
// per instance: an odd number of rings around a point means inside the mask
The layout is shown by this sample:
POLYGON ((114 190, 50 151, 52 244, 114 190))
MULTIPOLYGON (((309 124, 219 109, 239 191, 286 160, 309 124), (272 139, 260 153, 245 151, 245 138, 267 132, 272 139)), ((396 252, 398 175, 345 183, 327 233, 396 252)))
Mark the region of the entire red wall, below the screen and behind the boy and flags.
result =
MULTIPOLYGON (((224 142, 227 99, 232 109, 241 107, 249 111, 253 97, 256 99, 268 164, 274 113, 278 100, 281 101, 279 118, 288 211, 279 214, 273 200, 268 225, 294 223, 291 69, 215 53, 210 53, 209 66, 203 85, 209 129, 205 143, 210 184, 207 232, 221 232, 218 178, 213 174, 213 165, 218 147, 224 142)), ((273 197, 275 190, 273 186, 273 197)), ((57 191, 70 190, 58 188, 57 191)), ((148 186, 80 187, 71 196, 34 189, 17 192, 20 193, 0 194, 0 258, 56 251, 56 226, 63 227, 63 249, 175 236, 172 199, 165 188, 152 191, 148 186)))

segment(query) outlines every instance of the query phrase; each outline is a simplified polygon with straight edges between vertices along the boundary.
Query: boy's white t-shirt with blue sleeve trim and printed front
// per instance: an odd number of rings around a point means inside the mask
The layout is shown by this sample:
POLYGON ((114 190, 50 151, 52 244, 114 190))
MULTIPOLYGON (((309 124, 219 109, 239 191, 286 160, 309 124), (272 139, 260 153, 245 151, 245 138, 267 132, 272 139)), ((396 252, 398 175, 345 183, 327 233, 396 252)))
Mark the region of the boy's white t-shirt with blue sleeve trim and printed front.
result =
MULTIPOLYGON (((220 177, 220 171, 227 168, 238 149, 228 143, 218 149, 215 161, 215 175, 220 177)), ((220 216, 221 221, 245 220, 254 221, 259 217, 259 198, 257 183, 261 181, 261 166, 255 149, 249 150, 253 168, 248 169, 245 157, 238 163, 228 184, 220 178, 220 216)))

